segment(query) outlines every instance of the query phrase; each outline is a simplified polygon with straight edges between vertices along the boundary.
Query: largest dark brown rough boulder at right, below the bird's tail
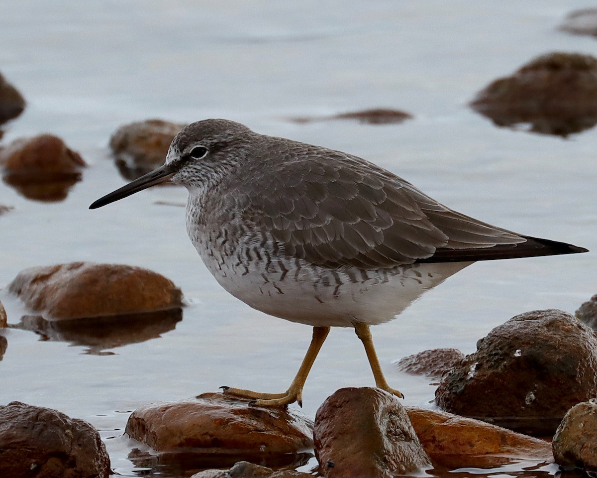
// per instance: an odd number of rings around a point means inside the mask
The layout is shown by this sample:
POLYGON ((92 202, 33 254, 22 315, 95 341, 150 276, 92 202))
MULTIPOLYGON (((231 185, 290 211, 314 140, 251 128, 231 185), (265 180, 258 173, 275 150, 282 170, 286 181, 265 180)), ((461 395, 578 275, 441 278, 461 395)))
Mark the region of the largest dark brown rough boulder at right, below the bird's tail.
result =
POLYGON ((560 310, 525 312, 477 342, 446 373, 436 403, 457 415, 545 436, 597 393, 597 338, 560 310))

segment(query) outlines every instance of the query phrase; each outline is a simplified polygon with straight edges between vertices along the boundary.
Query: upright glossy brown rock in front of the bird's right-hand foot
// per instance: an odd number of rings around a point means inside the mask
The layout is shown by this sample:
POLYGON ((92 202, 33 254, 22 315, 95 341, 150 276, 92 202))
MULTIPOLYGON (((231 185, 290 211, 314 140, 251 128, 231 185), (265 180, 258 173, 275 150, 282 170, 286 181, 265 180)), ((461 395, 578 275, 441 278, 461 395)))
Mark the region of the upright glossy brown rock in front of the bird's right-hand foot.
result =
POLYGON ((341 388, 315 416, 315 456, 326 477, 393 477, 430 467, 407 412, 378 388, 341 388))

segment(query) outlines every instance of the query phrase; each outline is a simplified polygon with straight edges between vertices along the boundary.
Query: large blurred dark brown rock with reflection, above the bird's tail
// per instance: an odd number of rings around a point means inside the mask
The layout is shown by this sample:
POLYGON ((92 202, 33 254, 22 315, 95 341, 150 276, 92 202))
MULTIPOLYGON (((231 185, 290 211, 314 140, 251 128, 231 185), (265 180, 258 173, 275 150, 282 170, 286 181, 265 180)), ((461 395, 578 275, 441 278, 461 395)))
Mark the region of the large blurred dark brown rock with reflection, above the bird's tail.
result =
POLYGON ((537 57, 481 90, 470 106, 498 126, 530 124, 568 136, 597 123, 597 59, 578 53, 537 57))

